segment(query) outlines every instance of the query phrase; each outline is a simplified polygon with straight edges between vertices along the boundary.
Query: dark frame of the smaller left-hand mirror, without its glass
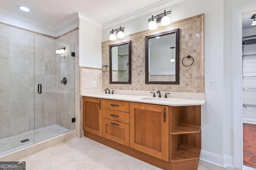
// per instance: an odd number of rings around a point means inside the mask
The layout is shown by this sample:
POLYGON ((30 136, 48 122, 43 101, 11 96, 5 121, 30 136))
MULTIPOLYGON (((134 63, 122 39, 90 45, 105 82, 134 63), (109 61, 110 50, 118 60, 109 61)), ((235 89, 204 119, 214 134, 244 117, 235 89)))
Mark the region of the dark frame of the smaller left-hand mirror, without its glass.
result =
POLYGON ((109 45, 109 83, 110 84, 132 84, 132 41, 125 41, 122 43, 109 45), (127 82, 113 82, 112 81, 112 47, 128 44, 129 51, 129 80, 127 82))

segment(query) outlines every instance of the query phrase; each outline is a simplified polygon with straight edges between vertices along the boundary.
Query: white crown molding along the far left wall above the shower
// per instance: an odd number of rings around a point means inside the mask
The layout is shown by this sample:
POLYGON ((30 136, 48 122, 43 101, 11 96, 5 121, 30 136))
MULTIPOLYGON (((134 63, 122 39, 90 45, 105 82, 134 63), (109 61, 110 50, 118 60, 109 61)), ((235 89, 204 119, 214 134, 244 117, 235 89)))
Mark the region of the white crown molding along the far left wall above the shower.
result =
POLYGON ((20 20, 20 21, 23 21, 23 22, 26 22, 26 23, 30 23, 32 25, 43 27, 45 29, 49 29, 49 30, 52 30, 52 31, 57 31, 56 27, 54 27, 53 25, 50 25, 48 23, 44 23, 44 22, 41 22, 41 21, 38 21, 38 20, 34 20, 32 18, 28 18, 28 17, 25 17, 25 16, 21 17, 20 15, 14 13, 14 12, 10 12, 8 10, 5 10, 3 8, 0 8, 0 15, 7 16, 7 17, 10 17, 10 18, 13 18, 13 19, 16 19, 16 20, 20 20))

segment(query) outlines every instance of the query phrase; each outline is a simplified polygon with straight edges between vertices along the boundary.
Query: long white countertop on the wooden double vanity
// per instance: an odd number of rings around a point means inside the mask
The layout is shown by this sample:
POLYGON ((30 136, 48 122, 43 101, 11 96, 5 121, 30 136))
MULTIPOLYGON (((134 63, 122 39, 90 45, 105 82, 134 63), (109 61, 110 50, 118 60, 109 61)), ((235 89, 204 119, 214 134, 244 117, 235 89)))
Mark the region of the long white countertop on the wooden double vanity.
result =
POLYGON ((111 100, 123 100, 129 102, 139 102, 148 104, 159 104, 166 106, 191 106, 191 105, 204 105, 205 100, 194 99, 179 99, 179 98, 153 98, 148 96, 136 96, 127 94, 85 94, 82 96, 92 98, 102 98, 111 100), (143 99, 144 98, 144 99, 143 99))

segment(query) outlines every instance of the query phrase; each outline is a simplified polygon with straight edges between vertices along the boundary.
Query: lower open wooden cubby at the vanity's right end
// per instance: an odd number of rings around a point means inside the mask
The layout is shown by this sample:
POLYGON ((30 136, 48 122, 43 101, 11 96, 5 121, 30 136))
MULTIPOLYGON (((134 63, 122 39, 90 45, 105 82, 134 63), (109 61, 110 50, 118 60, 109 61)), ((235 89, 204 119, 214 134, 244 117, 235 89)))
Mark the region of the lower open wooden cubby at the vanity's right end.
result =
POLYGON ((200 157, 201 133, 171 135, 171 162, 196 160, 200 157))

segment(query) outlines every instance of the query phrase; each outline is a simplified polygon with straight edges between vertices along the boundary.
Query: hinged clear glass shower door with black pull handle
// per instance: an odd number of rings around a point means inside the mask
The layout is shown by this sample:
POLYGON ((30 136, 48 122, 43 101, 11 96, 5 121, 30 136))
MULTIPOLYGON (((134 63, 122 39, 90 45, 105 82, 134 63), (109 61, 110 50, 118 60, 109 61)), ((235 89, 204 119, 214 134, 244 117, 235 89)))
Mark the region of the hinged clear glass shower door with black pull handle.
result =
POLYGON ((72 45, 35 35, 35 142, 74 129, 72 50, 72 45), (57 54, 61 48, 64 53, 57 54))

